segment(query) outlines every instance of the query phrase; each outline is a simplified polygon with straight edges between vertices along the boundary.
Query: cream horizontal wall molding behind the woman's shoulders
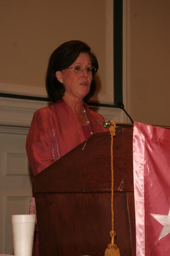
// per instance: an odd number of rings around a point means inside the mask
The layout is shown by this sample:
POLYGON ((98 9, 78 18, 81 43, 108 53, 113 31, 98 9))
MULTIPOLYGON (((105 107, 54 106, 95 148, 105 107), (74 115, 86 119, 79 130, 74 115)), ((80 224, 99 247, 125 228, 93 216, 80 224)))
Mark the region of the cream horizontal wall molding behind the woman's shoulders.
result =
MULTIPOLYGON (((39 108, 48 106, 48 104, 45 101, 0 97, 0 132, 27 134, 34 112, 39 108)), ((120 108, 100 106, 89 106, 89 108, 107 119, 114 119, 116 122, 126 121, 126 116, 120 108)))

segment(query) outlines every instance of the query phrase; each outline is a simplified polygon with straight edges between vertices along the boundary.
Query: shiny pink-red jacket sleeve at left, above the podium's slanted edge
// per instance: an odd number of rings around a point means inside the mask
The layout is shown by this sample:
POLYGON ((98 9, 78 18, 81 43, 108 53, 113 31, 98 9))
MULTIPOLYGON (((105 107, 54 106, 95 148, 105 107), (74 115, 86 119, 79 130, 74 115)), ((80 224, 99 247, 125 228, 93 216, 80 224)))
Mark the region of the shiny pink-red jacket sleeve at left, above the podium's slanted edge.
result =
POLYGON ((33 175, 47 168, 57 157, 49 119, 41 111, 34 113, 26 138, 26 152, 33 175))

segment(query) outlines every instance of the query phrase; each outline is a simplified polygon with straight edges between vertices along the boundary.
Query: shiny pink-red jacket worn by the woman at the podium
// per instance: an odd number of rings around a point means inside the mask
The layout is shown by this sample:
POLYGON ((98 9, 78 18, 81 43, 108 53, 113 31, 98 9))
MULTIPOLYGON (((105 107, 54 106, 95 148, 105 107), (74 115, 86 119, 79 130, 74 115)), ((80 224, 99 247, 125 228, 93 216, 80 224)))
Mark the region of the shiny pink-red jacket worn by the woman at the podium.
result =
MULTIPOLYGON (((104 118, 84 104, 93 134, 107 132, 104 118)), ((81 124, 67 103, 60 99, 33 115, 26 138, 26 151, 33 175, 85 141, 81 124)))

